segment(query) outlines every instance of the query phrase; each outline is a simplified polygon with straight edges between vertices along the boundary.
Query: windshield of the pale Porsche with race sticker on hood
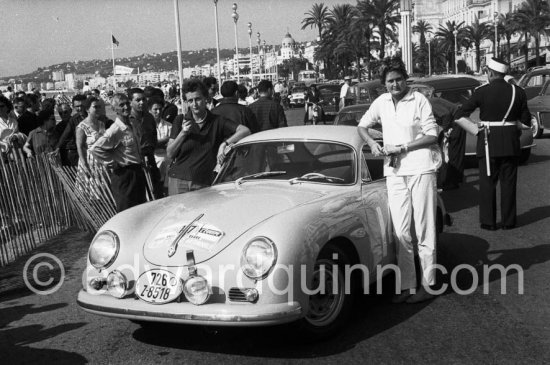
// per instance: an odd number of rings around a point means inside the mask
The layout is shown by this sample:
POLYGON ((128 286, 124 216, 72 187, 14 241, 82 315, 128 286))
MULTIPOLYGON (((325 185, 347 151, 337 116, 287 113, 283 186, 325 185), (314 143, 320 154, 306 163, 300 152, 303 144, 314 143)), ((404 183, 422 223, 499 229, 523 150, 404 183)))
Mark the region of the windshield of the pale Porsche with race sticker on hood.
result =
POLYGON ((334 142, 249 143, 229 153, 216 183, 298 178, 294 182, 351 184, 355 181, 354 156, 351 147, 334 142))

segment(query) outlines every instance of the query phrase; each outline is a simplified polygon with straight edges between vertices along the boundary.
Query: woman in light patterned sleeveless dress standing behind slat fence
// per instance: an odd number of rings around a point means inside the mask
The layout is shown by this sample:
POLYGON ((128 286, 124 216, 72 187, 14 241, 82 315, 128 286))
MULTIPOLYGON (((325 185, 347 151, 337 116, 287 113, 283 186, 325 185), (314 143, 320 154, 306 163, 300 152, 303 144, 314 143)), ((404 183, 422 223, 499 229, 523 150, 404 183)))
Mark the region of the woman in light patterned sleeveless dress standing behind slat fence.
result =
POLYGON ((85 103, 88 116, 76 127, 76 149, 78 151, 78 174, 85 180, 92 175, 95 160, 88 149, 105 133, 105 124, 100 120, 101 105, 96 98, 88 98, 85 103))

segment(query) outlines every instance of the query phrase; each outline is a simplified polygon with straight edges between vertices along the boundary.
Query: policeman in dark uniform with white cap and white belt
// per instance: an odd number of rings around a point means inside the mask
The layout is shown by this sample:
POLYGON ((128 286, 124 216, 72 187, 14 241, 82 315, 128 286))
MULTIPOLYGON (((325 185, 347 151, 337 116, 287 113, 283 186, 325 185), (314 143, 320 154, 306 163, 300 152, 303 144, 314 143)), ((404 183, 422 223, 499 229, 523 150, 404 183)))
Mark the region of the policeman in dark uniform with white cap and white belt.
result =
POLYGON ((502 229, 516 226, 516 185, 520 155, 521 123, 530 125, 531 115, 522 88, 504 80, 508 65, 497 58, 487 62, 488 84, 478 87, 462 105, 457 124, 472 123, 468 118, 479 108, 477 133, 479 162, 479 221, 482 229, 496 225, 496 186, 500 181, 502 229), (487 154, 488 152, 488 154, 487 154))

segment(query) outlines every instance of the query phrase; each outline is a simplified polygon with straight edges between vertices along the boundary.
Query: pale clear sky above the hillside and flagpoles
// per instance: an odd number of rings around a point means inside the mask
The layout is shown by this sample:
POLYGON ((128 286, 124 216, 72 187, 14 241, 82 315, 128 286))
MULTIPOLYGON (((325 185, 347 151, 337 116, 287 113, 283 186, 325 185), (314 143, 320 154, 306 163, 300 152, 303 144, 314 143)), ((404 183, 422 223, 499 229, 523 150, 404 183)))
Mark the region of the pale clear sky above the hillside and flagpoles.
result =
MULTIPOLYGON (((178 0, 182 50, 216 46, 214 1, 178 0)), ((287 30, 296 41, 314 40, 317 29, 301 30, 316 1, 219 0, 220 47, 235 47, 231 14, 237 3, 239 48, 249 45, 247 23, 267 44, 280 44, 287 30)), ((355 4, 319 0, 329 8, 355 4)), ((14 76, 57 63, 110 59, 111 32, 120 42, 115 57, 176 50, 173 0, 0 0, 0 77, 14 76)))

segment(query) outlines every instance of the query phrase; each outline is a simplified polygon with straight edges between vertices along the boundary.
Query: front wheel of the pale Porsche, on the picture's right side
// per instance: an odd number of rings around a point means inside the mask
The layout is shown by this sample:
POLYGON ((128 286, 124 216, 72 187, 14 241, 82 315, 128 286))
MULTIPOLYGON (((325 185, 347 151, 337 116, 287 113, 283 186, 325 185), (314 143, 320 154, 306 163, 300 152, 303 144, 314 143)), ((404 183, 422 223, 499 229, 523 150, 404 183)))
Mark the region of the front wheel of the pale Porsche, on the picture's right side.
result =
POLYGON ((328 244, 317 257, 310 289, 318 293, 310 295, 307 314, 298 322, 303 338, 327 338, 349 319, 353 307, 353 286, 345 282, 349 265, 348 255, 335 244, 328 244))

